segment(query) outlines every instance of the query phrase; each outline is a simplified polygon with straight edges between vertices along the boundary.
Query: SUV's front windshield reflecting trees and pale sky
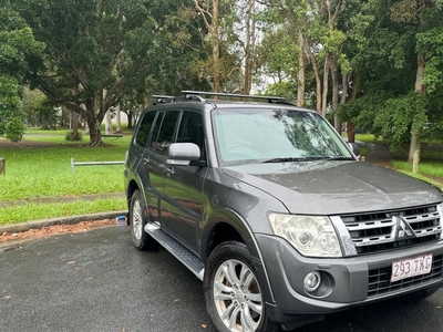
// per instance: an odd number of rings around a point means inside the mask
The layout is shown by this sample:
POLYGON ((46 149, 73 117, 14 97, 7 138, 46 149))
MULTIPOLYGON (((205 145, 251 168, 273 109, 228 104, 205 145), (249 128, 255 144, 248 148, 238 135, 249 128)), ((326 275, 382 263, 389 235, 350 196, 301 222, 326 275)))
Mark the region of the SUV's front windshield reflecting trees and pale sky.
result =
POLYGON ((220 165, 353 159, 327 121, 313 112, 214 110, 220 165))

